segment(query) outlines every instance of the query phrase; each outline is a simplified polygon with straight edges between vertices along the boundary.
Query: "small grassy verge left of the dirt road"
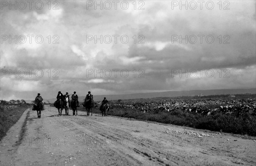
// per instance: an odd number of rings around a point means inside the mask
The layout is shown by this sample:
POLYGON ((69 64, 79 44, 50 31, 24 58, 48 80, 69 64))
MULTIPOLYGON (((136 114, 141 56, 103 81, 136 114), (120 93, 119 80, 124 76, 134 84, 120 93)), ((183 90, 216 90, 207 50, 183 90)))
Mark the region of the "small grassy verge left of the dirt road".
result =
POLYGON ((8 130, 20 119, 23 112, 30 108, 29 104, 12 104, 0 106, 0 140, 8 130))

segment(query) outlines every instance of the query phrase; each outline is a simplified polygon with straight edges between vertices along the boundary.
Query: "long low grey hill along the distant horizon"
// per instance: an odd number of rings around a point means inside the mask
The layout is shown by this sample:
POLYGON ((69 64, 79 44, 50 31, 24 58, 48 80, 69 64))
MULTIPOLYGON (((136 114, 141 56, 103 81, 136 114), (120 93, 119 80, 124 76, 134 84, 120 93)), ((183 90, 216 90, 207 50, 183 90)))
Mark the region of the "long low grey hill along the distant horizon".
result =
MULTIPOLYGON (((94 101, 102 101, 104 97, 107 100, 125 100, 125 99, 140 99, 140 98, 154 98, 154 97, 179 97, 179 96, 197 96, 198 94, 204 96, 217 94, 256 94, 256 88, 252 89, 212 89, 212 90, 192 90, 192 91, 169 91, 169 92, 153 92, 153 93, 135 93, 135 94, 119 94, 119 95, 93 95, 94 101)), ((70 96, 71 97, 71 96, 70 96)), ((83 102, 85 96, 79 96, 79 102, 83 102)), ((46 99, 50 103, 54 103, 56 98, 46 99)), ((31 100, 26 100, 29 102, 31 100)))

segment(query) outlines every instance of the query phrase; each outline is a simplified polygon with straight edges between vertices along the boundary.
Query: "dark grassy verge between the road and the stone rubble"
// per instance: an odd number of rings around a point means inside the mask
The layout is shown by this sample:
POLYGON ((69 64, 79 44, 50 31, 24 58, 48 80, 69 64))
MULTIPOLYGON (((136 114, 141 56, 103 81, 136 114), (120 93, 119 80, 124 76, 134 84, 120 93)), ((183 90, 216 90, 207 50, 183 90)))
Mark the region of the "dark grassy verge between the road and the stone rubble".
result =
POLYGON ((148 120, 159 123, 188 126, 196 129, 208 129, 217 132, 256 136, 256 116, 243 114, 236 117, 233 114, 190 114, 176 110, 173 112, 140 112, 131 108, 113 108, 109 115, 128 117, 138 120, 148 120))

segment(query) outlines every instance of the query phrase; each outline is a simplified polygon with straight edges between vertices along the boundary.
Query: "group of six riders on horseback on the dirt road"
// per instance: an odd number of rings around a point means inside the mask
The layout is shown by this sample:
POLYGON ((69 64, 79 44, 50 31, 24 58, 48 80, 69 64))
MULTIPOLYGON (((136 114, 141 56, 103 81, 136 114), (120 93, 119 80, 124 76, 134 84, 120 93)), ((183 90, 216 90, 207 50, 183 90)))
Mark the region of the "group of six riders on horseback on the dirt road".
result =
MULTIPOLYGON (((59 103, 60 105, 65 105, 66 108, 70 107, 72 103, 73 105, 75 105, 75 107, 79 107, 78 95, 76 94, 76 92, 74 92, 74 94, 72 94, 71 96, 71 104, 70 104, 70 94, 68 94, 68 92, 66 92, 66 94, 63 95, 61 91, 59 91, 56 98, 57 100, 54 102, 54 106, 56 108, 57 106, 55 105, 55 103, 59 103)), ((82 105, 86 107, 86 103, 89 100, 93 101, 93 95, 90 93, 90 91, 86 95, 84 103, 82 105)), ((38 93, 38 95, 35 97, 35 104, 34 104, 34 107, 35 107, 34 110, 38 111, 38 118, 41 118, 41 110, 44 110, 44 103, 42 101, 43 101, 43 98, 40 96, 40 93, 38 93)), ((100 111, 102 111, 102 116, 103 116, 103 108, 105 108, 105 106, 107 106, 108 104, 109 104, 108 100, 106 99, 106 97, 104 97, 104 99, 102 100, 102 105, 100 106, 100 111)), ((109 109, 109 105, 108 105, 108 109, 109 109)), ((76 110, 76 114, 77 114, 77 110, 76 110)), ((88 115, 88 112, 87 112, 87 115, 88 115)))

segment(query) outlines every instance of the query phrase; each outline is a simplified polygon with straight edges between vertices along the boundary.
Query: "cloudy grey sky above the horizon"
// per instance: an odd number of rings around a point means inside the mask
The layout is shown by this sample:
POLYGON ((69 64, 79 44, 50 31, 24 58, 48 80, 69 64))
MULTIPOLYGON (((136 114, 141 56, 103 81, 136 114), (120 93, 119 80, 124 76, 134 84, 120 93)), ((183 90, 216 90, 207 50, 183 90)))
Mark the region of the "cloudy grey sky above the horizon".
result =
POLYGON ((256 87, 254 0, 0 2, 1 100, 256 87))

